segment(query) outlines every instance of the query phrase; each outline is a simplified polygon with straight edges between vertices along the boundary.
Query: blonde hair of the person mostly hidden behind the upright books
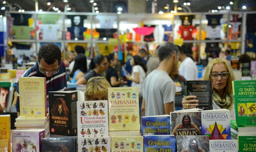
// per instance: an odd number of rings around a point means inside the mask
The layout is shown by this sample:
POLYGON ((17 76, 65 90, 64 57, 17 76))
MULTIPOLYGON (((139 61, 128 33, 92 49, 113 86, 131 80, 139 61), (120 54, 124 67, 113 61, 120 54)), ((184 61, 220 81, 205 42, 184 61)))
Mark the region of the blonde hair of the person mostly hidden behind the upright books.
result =
POLYGON ((85 100, 90 100, 92 95, 108 94, 108 88, 111 88, 108 80, 104 77, 92 77, 88 80, 85 90, 85 100))

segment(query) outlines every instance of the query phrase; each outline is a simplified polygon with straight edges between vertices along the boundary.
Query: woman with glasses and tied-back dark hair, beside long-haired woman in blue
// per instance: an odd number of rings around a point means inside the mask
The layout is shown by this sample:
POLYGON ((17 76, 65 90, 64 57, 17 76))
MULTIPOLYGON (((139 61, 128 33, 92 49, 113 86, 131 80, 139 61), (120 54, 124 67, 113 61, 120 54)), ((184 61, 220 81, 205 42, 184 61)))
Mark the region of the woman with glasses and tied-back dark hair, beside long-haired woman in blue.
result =
POLYGON ((107 58, 101 54, 96 55, 89 64, 89 71, 76 84, 86 84, 87 81, 96 76, 102 77, 102 72, 108 69, 109 62, 107 58))

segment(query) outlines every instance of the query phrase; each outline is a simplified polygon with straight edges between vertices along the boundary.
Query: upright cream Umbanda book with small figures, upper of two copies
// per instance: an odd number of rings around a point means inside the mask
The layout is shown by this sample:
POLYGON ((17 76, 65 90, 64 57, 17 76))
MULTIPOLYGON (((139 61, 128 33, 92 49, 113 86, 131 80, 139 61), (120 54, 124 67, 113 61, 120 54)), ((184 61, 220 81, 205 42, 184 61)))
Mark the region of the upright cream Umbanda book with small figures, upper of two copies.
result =
POLYGON ((108 88, 109 135, 139 135, 138 87, 108 88))

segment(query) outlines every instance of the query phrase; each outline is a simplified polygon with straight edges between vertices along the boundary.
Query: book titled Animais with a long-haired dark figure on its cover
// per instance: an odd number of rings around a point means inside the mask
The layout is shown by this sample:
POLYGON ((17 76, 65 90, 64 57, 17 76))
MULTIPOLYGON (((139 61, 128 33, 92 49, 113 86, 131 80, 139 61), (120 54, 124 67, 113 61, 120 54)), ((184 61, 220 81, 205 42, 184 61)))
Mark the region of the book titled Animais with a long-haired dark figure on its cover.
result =
POLYGON ((170 115, 172 135, 201 135, 201 114, 199 111, 171 112, 170 115))

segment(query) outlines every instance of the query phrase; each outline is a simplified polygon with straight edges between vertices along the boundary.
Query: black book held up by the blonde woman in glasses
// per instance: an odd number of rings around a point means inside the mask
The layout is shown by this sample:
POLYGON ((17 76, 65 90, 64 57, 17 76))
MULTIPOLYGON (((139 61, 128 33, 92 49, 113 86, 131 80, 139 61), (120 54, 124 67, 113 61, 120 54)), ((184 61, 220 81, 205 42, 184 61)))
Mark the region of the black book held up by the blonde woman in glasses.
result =
POLYGON ((198 107, 203 110, 212 110, 212 81, 187 81, 187 95, 197 96, 198 107))

